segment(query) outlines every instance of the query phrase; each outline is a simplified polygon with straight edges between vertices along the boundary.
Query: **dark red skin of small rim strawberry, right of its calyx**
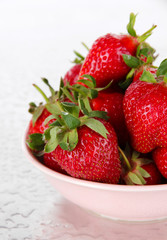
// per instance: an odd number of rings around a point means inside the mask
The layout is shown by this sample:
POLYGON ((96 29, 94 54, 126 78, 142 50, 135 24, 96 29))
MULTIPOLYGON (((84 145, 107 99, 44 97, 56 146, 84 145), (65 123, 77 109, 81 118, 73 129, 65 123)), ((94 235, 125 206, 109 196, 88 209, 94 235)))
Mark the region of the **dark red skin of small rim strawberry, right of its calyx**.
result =
POLYGON ((143 165, 142 168, 150 174, 150 177, 144 178, 146 181, 145 185, 156 185, 162 183, 162 175, 157 169, 155 163, 143 165))

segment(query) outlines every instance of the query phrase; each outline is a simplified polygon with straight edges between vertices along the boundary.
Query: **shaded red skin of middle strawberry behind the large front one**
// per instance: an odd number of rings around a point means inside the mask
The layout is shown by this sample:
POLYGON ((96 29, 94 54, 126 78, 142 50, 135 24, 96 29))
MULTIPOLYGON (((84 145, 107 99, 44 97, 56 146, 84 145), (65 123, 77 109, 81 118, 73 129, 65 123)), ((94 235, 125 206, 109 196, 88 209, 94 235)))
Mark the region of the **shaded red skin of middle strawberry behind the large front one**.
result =
POLYGON ((97 98, 91 100, 92 110, 108 113, 109 122, 114 127, 121 146, 125 146, 129 140, 123 112, 123 98, 124 94, 121 92, 101 91, 97 98))

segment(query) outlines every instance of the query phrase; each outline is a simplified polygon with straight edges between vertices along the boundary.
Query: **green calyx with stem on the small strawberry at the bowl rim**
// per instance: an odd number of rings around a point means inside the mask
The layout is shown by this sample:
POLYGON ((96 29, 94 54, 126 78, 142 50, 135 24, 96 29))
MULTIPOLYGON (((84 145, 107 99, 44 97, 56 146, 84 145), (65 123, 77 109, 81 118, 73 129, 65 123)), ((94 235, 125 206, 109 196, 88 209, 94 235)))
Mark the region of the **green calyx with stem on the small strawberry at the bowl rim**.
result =
POLYGON ((141 157, 141 153, 131 152, 129 145, 125 151, 119 148, 120 158, 122 161, 122 179, 127 185, 145 185, 145 178, 149 178, 150 174, 143 168, 152 162, 152 160, 141 157))

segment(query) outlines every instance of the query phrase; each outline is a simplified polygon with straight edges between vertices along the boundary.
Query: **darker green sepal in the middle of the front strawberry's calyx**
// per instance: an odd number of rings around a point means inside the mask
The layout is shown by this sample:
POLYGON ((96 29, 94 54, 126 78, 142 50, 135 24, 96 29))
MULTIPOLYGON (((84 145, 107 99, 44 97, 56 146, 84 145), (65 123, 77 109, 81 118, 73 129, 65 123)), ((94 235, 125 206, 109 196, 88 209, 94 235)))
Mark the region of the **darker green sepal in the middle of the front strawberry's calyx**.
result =
POLYGON ((62 112, 61 116, 64 119, 65 124, 69 129, 77 128, 81 124, 81 121, 70 113, 62 112))

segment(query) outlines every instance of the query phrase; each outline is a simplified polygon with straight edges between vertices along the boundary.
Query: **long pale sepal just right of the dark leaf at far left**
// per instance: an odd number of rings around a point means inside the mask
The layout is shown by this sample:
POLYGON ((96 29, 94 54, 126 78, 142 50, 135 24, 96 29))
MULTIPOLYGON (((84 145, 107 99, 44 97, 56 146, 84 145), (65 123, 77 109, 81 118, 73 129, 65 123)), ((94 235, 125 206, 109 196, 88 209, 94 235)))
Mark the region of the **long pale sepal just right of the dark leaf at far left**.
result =
POLYGON ((51 128, 50 130, 50 139, 49 141, 47 142, 47 144, 45 145, 45 152, 49 153, 49 152, 52 152, 56 149, 56 147, 59 145, 59 143, 61 142, 61 138, 62 136, 60 137, 60 129, 59 127, 54 127, 54 128, 51 128))

